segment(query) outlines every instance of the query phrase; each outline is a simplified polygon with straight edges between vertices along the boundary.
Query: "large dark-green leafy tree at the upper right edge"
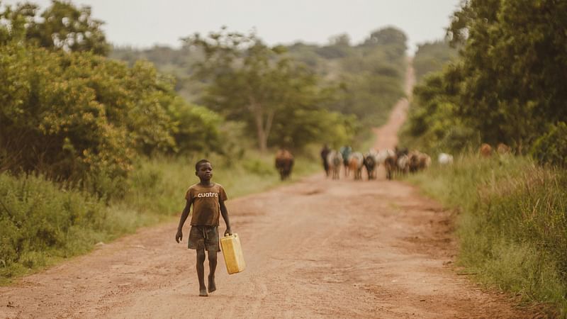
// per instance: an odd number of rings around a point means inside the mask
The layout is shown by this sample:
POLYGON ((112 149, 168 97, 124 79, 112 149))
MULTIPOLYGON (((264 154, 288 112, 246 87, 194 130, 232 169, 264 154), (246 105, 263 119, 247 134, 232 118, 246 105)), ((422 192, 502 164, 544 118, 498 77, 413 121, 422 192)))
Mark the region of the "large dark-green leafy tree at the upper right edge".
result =
POLYGON ((529 150, 550 123, 567 121, 566 17, 564 1, 464 2, 448 32, 461 45, 441 76, 450 90, 431 98, 451 100, 446 116, 483 142, 529 150))

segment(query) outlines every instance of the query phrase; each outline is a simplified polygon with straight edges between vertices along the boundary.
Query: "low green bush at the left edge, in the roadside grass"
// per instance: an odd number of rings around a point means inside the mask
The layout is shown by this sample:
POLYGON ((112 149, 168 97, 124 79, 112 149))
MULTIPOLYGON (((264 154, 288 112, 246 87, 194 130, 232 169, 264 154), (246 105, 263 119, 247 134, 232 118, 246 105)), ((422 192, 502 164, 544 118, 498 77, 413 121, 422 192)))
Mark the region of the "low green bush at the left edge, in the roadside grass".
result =
POLYGON ((41 176, 1 173, 0 198, 0 276, 89 250, 94 238, 77 234, 105 225, 104 203, 41 176))

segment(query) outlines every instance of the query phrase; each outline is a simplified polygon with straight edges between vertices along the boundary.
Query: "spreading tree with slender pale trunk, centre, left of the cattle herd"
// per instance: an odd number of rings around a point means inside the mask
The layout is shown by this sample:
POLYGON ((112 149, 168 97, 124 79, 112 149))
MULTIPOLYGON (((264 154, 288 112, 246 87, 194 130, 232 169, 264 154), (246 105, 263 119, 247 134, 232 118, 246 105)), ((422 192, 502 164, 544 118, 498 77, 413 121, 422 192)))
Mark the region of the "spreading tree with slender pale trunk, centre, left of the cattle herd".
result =
POLYGON ((315 76, 284 57, 282 47, 269 47, 254 33, 222 28, 207 38, 196 34, 184 42, 205 56, 197 72, 208 81, 203 103, 229 120, 245 121, 262 151, 268 147, 274 121, 293 123, 298 115, 289 110, 318 105, 315 76), (283 113, 290 117, 278 118, 283 113))

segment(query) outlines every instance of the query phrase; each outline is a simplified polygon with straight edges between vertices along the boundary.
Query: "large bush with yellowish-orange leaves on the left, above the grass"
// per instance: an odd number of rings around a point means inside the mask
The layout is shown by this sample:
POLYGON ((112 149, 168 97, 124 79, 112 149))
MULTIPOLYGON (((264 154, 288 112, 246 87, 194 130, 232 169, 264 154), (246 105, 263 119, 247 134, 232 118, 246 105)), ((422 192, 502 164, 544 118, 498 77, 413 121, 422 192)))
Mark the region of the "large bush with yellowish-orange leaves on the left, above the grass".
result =
POLYGON ((174 147, 173 84, 147 62, 128 68, 88 52, 0 46, 0 169, 120 184, 136 153, 174 147))

